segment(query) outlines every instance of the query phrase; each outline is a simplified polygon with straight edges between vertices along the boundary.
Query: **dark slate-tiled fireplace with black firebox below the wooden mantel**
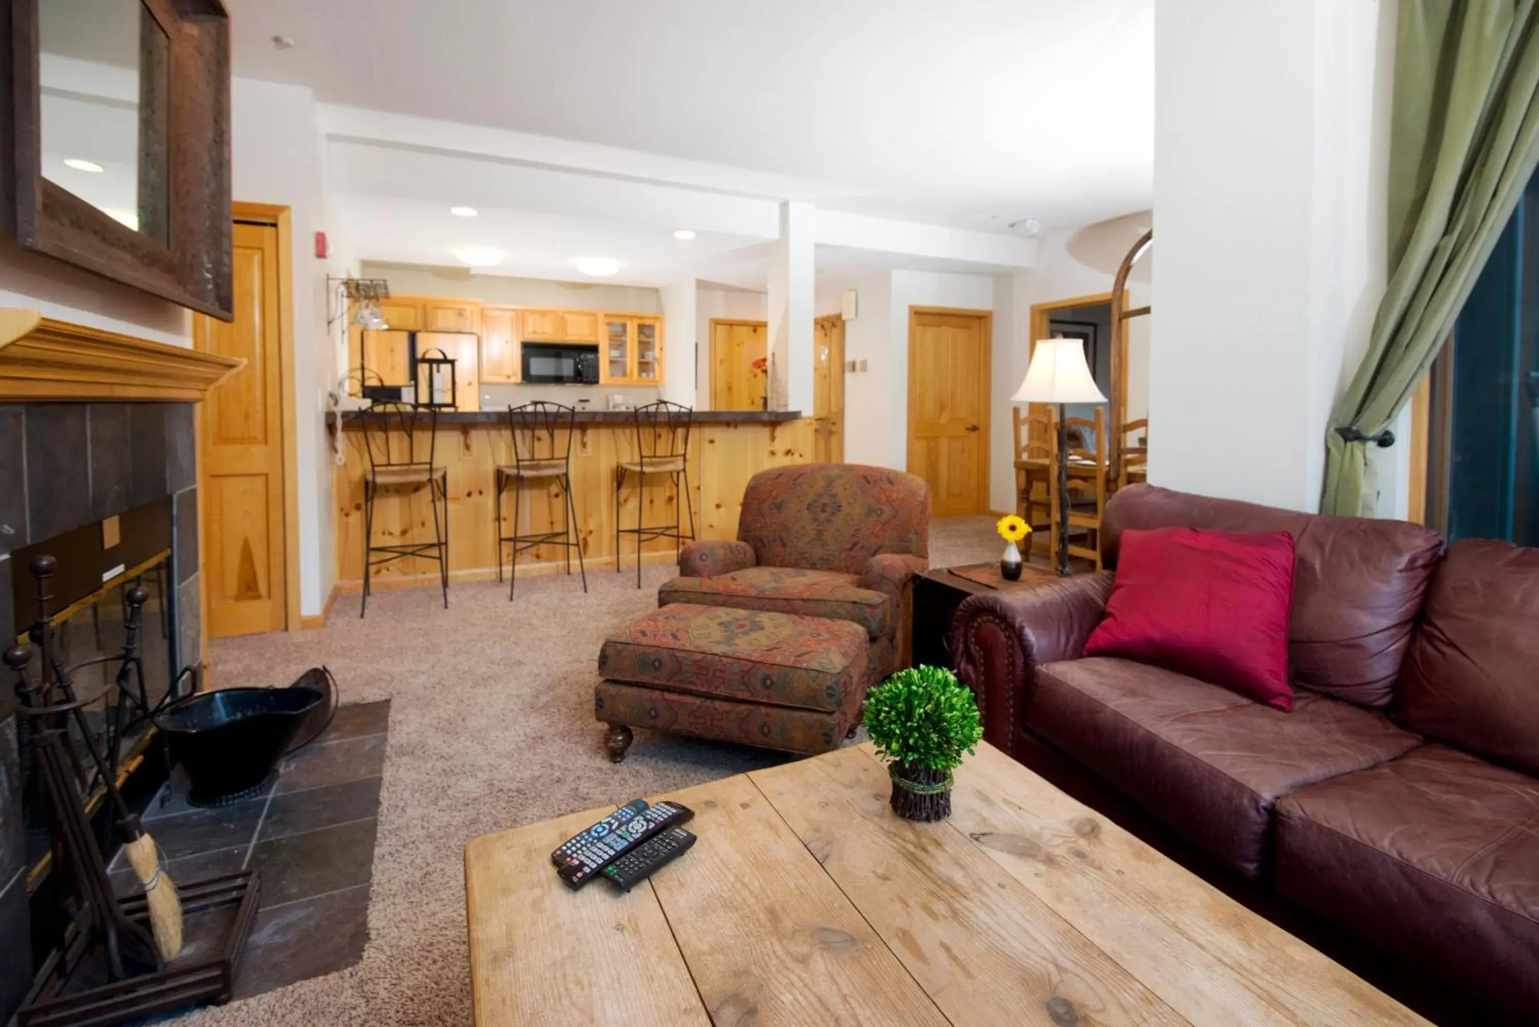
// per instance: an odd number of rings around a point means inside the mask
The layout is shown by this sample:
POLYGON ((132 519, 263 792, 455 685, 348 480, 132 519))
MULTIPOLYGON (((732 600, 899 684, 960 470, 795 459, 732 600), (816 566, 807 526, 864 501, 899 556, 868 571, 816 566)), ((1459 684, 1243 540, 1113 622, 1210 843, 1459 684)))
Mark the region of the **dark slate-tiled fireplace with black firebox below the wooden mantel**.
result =
MULTIPOLYGON (((6 639, 37 617, 28 567, 55 557, 49 614, 62 662, 92 731, 114 704, 126 590, 148 591, 139 654, 145 699, 191 690, 202 659, 194 411, 189 403, 0 403, 0 627, 6 639), (91 664, 92 659, 108 657, 91 664)), ((34 656, 34 674, 37 671, 34 656)), ((62 930, 49 881, 49 827, 14 682, 0 685, 0 1022, 25 995, 62 930)), ((83 751, 83 750, 82 750, 83 751)), ((129 731, 119 765, 146 799, 165 773, 148 725, 129 731)), ((105 818, 103 818, 105 819, 105 818)))

